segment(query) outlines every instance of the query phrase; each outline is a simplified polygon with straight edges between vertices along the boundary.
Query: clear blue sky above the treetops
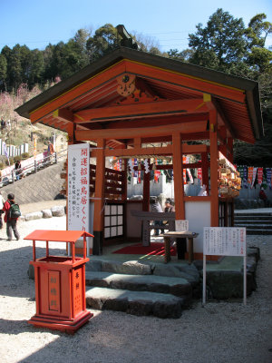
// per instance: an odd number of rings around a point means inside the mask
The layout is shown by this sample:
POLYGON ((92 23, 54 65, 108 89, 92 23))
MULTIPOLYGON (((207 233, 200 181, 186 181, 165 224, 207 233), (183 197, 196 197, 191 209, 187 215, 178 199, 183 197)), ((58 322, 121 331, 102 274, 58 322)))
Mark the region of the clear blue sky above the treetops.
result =
MULTIPOLYGON (((271 0, 0 0, 0 50, 27 45, 43 50, 49 43, 67 42, 77 30, 94 32, 110 23, 143 35, 160 51, 188 47, 188 34, 204 26, 221 7, 245 25, 259 13, 272 22, 271 0)), ((272 34, 267 39, 272 45, 272 34)))

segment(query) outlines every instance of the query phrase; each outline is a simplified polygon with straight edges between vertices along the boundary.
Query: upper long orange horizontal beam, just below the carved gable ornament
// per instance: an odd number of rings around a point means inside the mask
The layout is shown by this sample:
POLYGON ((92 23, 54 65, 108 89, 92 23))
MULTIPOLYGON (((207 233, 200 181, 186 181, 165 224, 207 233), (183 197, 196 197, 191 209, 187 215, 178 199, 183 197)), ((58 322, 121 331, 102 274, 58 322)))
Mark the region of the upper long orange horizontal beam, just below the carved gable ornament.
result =
POLYGON ((142 117, 165 116, 166 114, 204 113, 207 112, 202 100, 156 101, 151 103, 135 103, 112 107, 92 108, 74 113, 75 123, 90 121, 109 121, 121 119, 137 119, 142 117), (201 107, 199 105, 201 104, 201 107))

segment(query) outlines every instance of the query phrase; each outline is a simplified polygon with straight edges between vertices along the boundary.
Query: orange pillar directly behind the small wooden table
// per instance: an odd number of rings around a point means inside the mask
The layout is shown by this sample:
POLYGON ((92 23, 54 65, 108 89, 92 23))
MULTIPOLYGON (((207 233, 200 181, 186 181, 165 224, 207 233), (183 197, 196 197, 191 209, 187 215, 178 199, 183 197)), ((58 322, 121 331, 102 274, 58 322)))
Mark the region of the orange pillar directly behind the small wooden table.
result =
POLYGON ((173 172, 175 191, 176 220, 185 219, 184 190, 183 190, 183 166, 182 166, 182 144, 180 132, 172 135, 173 143, 173 172))

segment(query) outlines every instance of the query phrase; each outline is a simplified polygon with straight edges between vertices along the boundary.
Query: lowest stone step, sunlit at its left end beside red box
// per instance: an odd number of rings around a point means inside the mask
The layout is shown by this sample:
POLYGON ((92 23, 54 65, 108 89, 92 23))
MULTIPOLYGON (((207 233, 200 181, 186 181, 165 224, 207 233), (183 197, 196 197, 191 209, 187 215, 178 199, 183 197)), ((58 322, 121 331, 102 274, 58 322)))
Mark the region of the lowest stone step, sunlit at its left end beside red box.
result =
POLYGON ((92 309, 124 311, 128 314, 158 318, 181 316, 185 308, 183 298, 150 291, 129 291, 124 289, 86 288, 86 304, 92 309))

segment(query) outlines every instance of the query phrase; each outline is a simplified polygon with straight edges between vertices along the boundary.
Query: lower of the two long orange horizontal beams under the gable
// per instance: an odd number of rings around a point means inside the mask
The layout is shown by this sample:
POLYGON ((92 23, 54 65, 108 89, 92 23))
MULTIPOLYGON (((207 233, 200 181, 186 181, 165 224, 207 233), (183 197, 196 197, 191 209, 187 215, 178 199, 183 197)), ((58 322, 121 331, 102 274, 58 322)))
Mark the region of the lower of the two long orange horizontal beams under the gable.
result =
POLYGON ((134 137, 165 136, 173 132, 203 132, 206 131, 207 123, 200 121, 196 123, 178 123, 158 127, 142 127, 139 129, 101 129, 90 131, 76 131, 76 140, 92 141, 100 138, 105 139, 131 139, 134 137))

